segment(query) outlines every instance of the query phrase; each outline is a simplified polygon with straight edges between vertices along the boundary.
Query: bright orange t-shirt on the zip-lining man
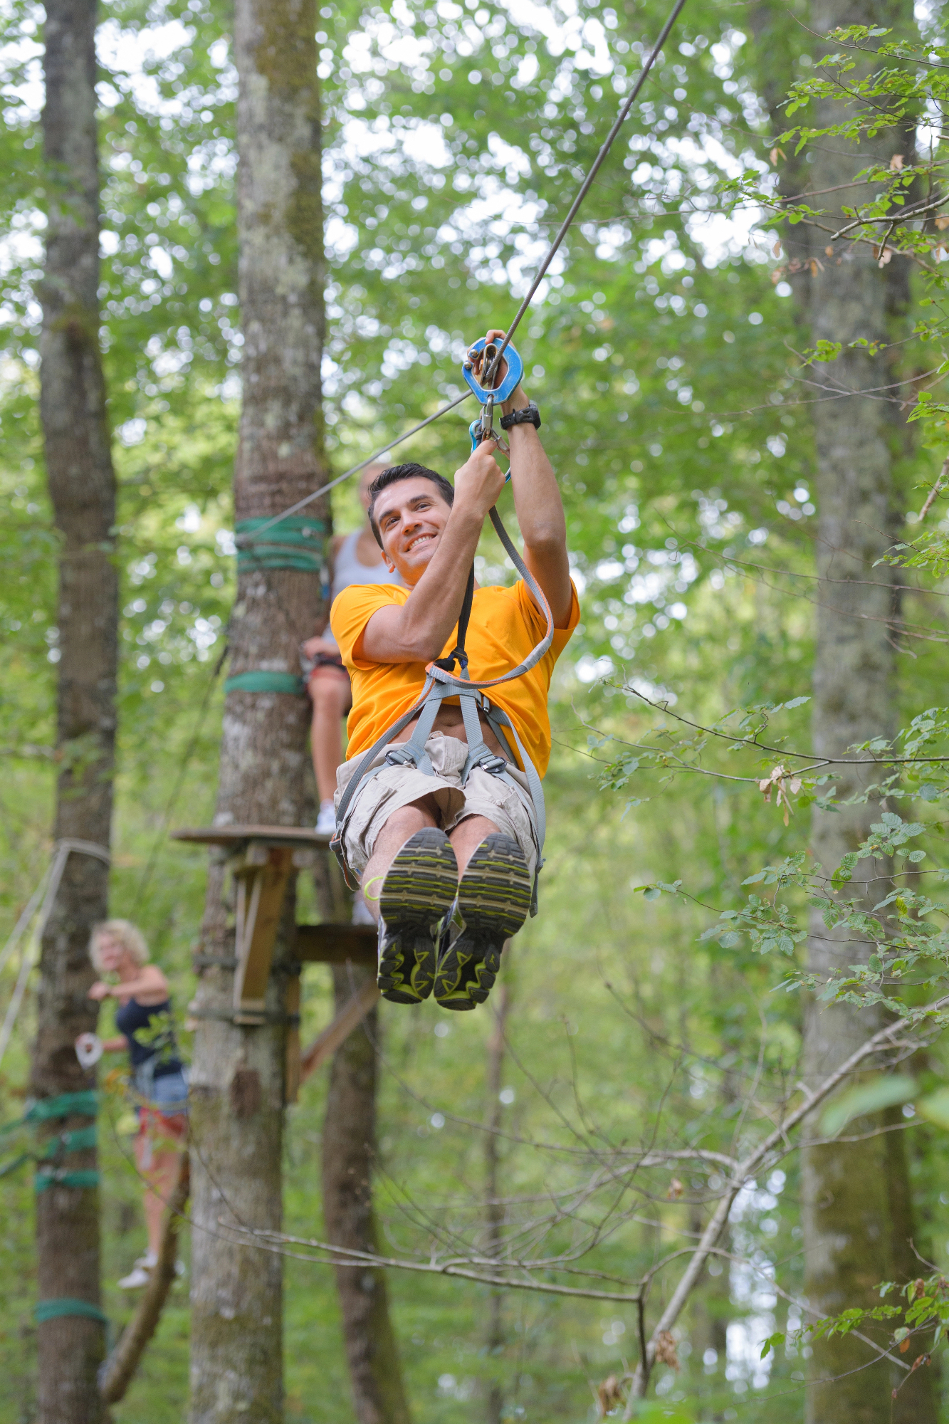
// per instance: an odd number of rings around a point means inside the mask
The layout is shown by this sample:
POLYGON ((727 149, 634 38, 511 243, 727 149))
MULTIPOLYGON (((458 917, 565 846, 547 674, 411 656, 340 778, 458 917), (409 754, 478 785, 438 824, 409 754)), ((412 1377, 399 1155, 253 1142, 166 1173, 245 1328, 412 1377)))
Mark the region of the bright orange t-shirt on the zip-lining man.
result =
MULTIPOLYGON (((422 693, 423 662, 369 662, 353 656, 353 648, 376 609, 405 604, 410 592, 410 588, 396 584, 351 584, 333 600, 329 622, 352 678, 348 760, 366 752, 422 693)), ((550 678, 579 621, 580 604, 574 588, 567 627, 554 628, 553 642, 540 662, 522 678, 489 688, 484 693, 512 719, 540 776, 550 760, 550 678)), ((472 682, 486 682, 516 668, 540 642, 544 628, 544 617, 522 580, 513 588, 476 588, 465 639, 472 682)), ((443 658, 450 654, 456 637, 457 627, 442 649, 443 658)), ((457 702, 457 698, 449 701, 457 702)))

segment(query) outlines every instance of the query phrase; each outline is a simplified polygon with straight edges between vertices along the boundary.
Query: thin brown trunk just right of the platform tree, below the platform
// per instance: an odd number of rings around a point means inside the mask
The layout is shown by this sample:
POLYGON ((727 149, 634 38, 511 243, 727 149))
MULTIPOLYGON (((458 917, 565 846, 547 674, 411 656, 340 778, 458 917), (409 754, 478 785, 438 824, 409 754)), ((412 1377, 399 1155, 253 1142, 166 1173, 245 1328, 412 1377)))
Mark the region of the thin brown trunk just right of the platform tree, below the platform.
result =
MULTIPOLYGON (((339 1012, 372 970, 333 964, 339 1012)), ((323 1124, 323 1220, 326 1237, 346 1250, 378 1250, 372 1213, 376 1153, 376 1041, 372 1010, 333 1055, 323 1124)), ((359 1424, 410 1424, 399 1347, 389 1317, 383 1270, 336 1266, 353 1408, 359 1424)))

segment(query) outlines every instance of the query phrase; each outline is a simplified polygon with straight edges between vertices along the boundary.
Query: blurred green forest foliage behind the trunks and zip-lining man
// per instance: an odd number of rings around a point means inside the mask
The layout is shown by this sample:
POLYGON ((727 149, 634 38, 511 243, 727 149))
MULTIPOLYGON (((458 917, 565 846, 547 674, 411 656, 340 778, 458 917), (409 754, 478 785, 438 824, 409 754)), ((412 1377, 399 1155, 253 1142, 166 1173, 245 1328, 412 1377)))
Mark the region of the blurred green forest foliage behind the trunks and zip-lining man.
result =
MULTIPOLYGON (((48 856, 57 658, 33 296, 41 13, 7 0, 6 17, 0 928, 11 927, 48 856)), ((512 279, 531 271, 661 19, 651 3, 570 0, 523 14, 477 0, 321 10, 325 377, 336 471, 460 392, 465 343, 506 325, 512 279)), ((657 723, 638 693, 708 721, 809 691, 812 450, 794 355, 804 337, 787 289, 771 281, 769 244, 747 242, 741 222, 728 228, 714 216, 720 179, 767 167, 758 94, 767 84, 787 90, 804 41, 791 27, 782 43, 754 50, 735 23, 721 6, 685 11, 517 340, 567 503, 583 624, 554 688, 541 916, 504 971, 514 1001, 506 1064, 514 1095, 502 1146, 510 1195, 566 1190, 591 1169, 593 1151, 655 1135, 724 1151, 732 1134, 752 1131, 744 1116, 751 1077, 762 1102, 794 1079, 801 1005, 772 993, 782 968, 700 934, 742 903, 748 874, 805 847, 807 816, 785 829, 752 782, 698 773, 670 782, 654 769, 633 775, 620 795, 598 789, 600 763, 614 756, 600 733, 637 742, 657 723), (681 880, 691 899, 633 893, 657 880, 681 880)), ((123 570, 113 909, 142 924, 182 1010, 204 866, 167 832, 204 822, 214 803, 215 674, 234 588, 241 336, 227 9, 117 0, 100 41, 104 346, 123 570)), ((405 447, 406 457, 450 471, 472 414, 462 406, 405 447)), ((899 466, 908 508, 921 503, 916 483, 932 481, 930 459, 908 454, 899 466)), ((355 518, 343 488, 338 525, 355 518)), ((483 580, 510 577, 490 538, 482 560, 483 580)), ((939 644, 913 654, 902 682, 908 715, 939 702, 945 681, 939 644)), ((805 746, 807 706, 781 713, 775 728, 805 746)), ((725 756, 721 769, 735 770, 725 756)), ((11 980, 3 987, 9 993, 11 980)), ((329 1015, 318 968, 305 995, 309 1037, 329 1015)), ((425 1252, 422 1206, 455 1225, 470 1216, 483 1179, 483 1136, 466 1122, 489 1111, 492 1020, 456 1015, 445 1037, 437 1022, 432 1005, 382 1015, 378 1203, 393 1252, 425 1252)), ((27 1001, 0 1078, 9 1118, 20 1111, 28 1027, 27 1001)), ((312 1079, 289 1112, 286 1229, 305 1237, 321 1235, 323 1091, 325 1079, 312 1079)), ((104 1273, 117 1321, 128 1303, 113 1283, 142 1243, 123 1114, 110 1099, 103 1122, 104 1273)), ((925 1125, 909 1145, 918 1245, 942 1262, 945 1149, 925 1125)), ((683 1320, 681 1371, 658 1370, 661 1397, 684 1401, 697 1420, 801 1415, 801 1356, 788 1347, 765 1368, 754 1346, 794 1316, 768 1274, 779 1263, 782 1289, 794 1294, 799 1284, 795 1172, 791 1156, 742 1196, 732 1239, 759 1273, 710 1274, 683 1320)), ((606 1233, 587 1265, 636 1277, 695 1230, 708 1173, 680 1175, 681 1198, 670 1172, 647 1173, 634 1218, 606 1233)), ((0 1420, 19 1424, 34 1417, 26 1176, 3 1182, 0 1218, 0 1420)), ((559 1223, 554 1239, 573 1229, 559 1223)), ((650 1313, 673 1279, 658 1277, 650 1313)), ((510 1292, 509 1344, 489 1357, 484 1287, 392 1273, 390 1292, 419 1424, 470 1420, 494 1377, 512 1420, 593 1417, 596 1384, 634 1358, 630 1307, 510 1292)), ((120 1424, 182 1418, 187 1336, 182 1284, 115 1410, 120 1424)), ((288 1420, 349 1420, 326 1267, 286 1260, 285 1340, 288 1420)))

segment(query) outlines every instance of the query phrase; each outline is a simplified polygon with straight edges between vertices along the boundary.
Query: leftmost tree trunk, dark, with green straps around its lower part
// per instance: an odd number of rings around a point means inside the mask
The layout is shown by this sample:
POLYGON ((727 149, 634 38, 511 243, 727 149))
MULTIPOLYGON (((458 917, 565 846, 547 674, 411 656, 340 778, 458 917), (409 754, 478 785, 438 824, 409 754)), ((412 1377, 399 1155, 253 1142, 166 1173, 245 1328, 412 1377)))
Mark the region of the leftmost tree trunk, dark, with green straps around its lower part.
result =
MULTIPOLYGON (((95 1085, 74 1041, 95 1027, 85 997, 94 974, 90 930, 107 913, 118 580, 114 564, 115 476, 98 345, 98 158, 95 3, 46 7, 43 157, 47 192, 46 271, 40 289, 40 417, 54 521, 60 533, 56 839, 103 847, 70 852, 43 934, 37 1038, 30 1091, 56 1098, 95 1085)), ((46 1136, 90 1126, 88 1116, 50 1121, 46 1136)), ((95 1149, 64 1155, 66 1172, 95 1169, 95 1149)), ((37 1195, 40 1302, 100 1306, 98 1189, 50 1186, 37 1195)), ((60 1307, 63 1309, 63 1307, 60 1307)), ((66 1307, 68 1309, 68 1306, 66 1307)), ((38 1418, 103 1418, 95 1371, 103 1323, 81 1314, 41 1320, 38 1418)))

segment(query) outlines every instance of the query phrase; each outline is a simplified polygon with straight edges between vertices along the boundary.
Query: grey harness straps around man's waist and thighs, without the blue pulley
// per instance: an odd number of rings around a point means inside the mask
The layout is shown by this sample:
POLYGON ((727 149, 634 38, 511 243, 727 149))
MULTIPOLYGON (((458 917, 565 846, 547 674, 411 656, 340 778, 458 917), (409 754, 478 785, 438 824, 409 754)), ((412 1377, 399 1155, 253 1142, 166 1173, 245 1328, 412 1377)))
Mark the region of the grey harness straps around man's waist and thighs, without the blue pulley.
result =
MULTIPOLYGON (((510 732, 514 739, 514 746, 517 749, 517 753, 524 768, 524 775, 527 778, 527 789, 530 792, 530 799, 534 807, 534 820, 537 826, 537 867, 534 870, 534 886, 533 886, 533 896, 530 906, 530 913, 537 914, 537 876, 540 873, 540 867, 543 866, 544 836, 547 830, 543 783, 540 780, 540 776, 537 775, 537 768, 534 766, 527 752, 524 750, 520 736, 517 735, 517 728, 507 716, 507 713, 502 711, 502 708, 492 706, 492 703, 483 695, 483 689, 496 688, 504 682, 512 682, 514 678, 523 676, 524 672, 530 672, 530 669, 540 662, 540 659, 550 648, 550 644, 553 642, 553 617, 550 612, 550 604, 544 598, 543 590, 540 588, 537 580, 533 577, 533 574, 522 560, 520 554, 514 548, 514 544, 512 543, 507 530, 502 524, 500 514, 497 513, 496 508, 490 510, 490 520, 492 524, 494 525, 497 537, 504 545, 509 558, 512 560, 514 568, 523 578, 531 598, 537 604, 537 608, 544 615, 547 624, 547 627, 544 628, 544 635, 540 639, 540 642, 531 649, 531 652, 527 654, 524 661, 517 664, 516 668, 512 668, 510 672, 506 672, 500 678, 490 678, 489 681, 484 682, 472 682, 472 679, 467 675, 466 666, 462 666, 460 676, 455 676, 445 668, 440 668, 436 664, 429 664, 429 666, 426 668, 425 686, 422 688, 422 695, 419 696, 418 702, 415 702, 408 712, 403 712, 402 716, 398 719, 398 722, 393 722, 393 725, 386 732, 383 732, 376 742, 373 742, 373 745, 369 748, 368 752, 365 752, 359 765, 352 773, 346 790, 342 793, 339 799, 339 806, 336 807, 336 832, 329 843, 329 849, 335 853, 336 859, 339 860, 343 876, 346 876, 346 881, 349 883, 349 876, 348 876, 349 867, 346 866, 346 859, 343 853, 343 833, 346 829, 346 819, 356 793, 366 785, 366 782, 369 782, 373 776, 376 776, 383 769, 383 766, 415 766, 426 776, 433 776, 435 772, 432 768, 432 760, 425 749, 425 745, 429 736, 432 735, 435 719, 439 715, 445 698, 457 698, 462 708, 462 718, 465 721, 465 736, 467 739, 467 748, 469 748, 467 758, 465 760, 465 768, 462 770, 463 786, 467 782, 467 778, 473 770, 473 768, 477 766, 483 772, 487 772, 490 776, 497 776, 500 780, 504 780, 510 786, 517 787, 517 782, 507 770, 507 762, 504 760, 504 758, 499 756, 497 752, 493 752, 487 745, 487 742, 484 740, 484 732, 482 731, 479 709, 484 713, 484 719, 494 731, 494 735, 497 736, 497 740, 502 743, 502 746, 504 743, 510 746, 510 740, 506 735, 507 732, 510 732), (409 722, 416 716, 419 721, 416 722, 416 726, 409 740, 399 742, 396 746, 390 746, 389 743, 392 742, 392 739, 396 738, 399 732, 402 732, 403 728, 406 728, 409 722), (378 765, 373 766, 373 762, 376 760, 379 753, 386 748, 388 750, 385 753, 385 758, 378 765)), ((456 649, 456 652, 459 649, 456 649)), ((460 651, 463 651, 463 638, 460 639, 460 651)))

